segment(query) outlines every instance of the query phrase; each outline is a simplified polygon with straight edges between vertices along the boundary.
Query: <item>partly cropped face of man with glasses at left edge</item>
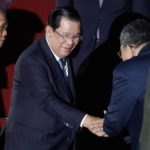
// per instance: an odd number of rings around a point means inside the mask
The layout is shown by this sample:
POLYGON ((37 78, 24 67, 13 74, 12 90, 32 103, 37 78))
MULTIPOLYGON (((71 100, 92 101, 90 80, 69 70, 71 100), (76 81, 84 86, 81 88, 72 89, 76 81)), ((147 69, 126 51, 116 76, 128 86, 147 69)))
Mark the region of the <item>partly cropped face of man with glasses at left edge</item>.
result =
POLYGON ((7 35, 7 20, 2 12, 0 12, 0 47, 2 47, 7 35))

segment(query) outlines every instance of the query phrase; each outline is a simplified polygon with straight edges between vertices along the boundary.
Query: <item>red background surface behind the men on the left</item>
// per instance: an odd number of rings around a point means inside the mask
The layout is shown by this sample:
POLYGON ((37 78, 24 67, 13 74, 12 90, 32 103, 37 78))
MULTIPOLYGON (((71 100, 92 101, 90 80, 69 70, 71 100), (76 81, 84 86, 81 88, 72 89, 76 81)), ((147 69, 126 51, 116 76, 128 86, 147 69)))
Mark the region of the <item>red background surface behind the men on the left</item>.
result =
MULTIPOLYGON (((8 10, 10 9, 22 9, 25 11, 35 13, 43 22, 46 24, 49 12, 55 7, 55 0, 14 0, 13 4, 8 5, 8 10)), ((16 34, 17 35, 17 34, 16 34)), ((38 39, 43 35, 42 32, 34 33, 33 41, 38 39)), ((14 37, 15 39, 15 37, 14 37)), ((14 74, 15 64, 9 64, 5 67, 6 79, 7 79, 7 88, 0 89, 0 108, 2 109, 3 114, 0 114, 0 130, 5 124, 5 118, 8 117, 9 107, 10 107, 10 97, 11 97, 11 88, 13 83, 13 74, 14 74)))

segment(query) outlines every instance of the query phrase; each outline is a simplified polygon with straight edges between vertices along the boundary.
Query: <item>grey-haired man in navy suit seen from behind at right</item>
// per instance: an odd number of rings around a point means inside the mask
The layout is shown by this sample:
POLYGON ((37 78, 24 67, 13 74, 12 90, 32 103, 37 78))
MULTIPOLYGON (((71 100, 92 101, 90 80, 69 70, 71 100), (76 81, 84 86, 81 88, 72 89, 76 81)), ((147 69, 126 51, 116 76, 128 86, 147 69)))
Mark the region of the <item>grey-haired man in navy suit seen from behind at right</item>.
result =
POLYGON ((127 143, 131 143, 132 150, 139 150, 150 68, 150 22, 137 19, 127 24, 121 32, 120 43, 123 62, 113 72, 111 101, 103 130, 110 137, 123 136, 127 143))

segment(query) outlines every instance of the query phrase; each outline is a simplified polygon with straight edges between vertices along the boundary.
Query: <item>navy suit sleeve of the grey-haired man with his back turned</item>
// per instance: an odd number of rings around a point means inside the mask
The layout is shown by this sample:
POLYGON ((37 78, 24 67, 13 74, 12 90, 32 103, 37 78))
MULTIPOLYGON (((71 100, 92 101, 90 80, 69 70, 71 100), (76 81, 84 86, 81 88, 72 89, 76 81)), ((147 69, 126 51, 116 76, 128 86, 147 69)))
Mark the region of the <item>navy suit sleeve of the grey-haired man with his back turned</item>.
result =
POLYGON ((136 95, 129 79, 121 73, 114 72, 111 101, 103 126, 110 137, 119 135, 126 127, 136 104, 136 95))

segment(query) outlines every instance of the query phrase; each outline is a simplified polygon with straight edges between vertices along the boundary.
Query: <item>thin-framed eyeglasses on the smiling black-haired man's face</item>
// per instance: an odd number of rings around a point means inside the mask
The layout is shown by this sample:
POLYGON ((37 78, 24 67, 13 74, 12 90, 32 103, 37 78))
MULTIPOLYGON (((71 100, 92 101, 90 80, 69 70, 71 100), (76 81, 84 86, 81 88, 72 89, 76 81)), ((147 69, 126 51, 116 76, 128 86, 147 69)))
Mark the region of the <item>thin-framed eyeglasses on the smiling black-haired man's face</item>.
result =
POLYGON ((69 35, 67 35, 67 34, 60 34, 59 32, 57 32, 56 30, 55 30, 55 33, 62 39, 62 40, 64 40, 64 41, 66 41, 66 40, 69 40, 69 39, 71 39, 71 40, 73 40, 73 41, 77 41, 77 40, 81 40, 82 39, 82 37, 80 36, 80 35, 75 35, 75 36, 69 36, 69 35))

